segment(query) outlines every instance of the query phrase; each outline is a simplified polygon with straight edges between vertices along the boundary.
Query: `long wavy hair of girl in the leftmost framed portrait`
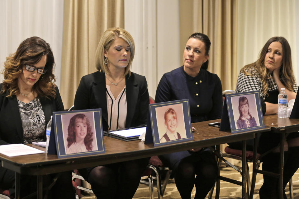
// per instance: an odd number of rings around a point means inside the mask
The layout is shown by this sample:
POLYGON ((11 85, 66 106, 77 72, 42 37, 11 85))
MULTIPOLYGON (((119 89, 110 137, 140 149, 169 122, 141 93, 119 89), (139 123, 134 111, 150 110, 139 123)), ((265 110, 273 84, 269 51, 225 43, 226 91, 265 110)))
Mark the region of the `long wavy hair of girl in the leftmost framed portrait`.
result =
POLYGON ((76 119, 82 119, 82 121, 85 120, 86 125, 87 125, 87 134, 84 138, 84 144, 85 144, 87 150, 93 150, 93 145, 92 145, 93 132, 91 130, 91 126, 90 126, 90 122, 89 122, 88 118, 86 117, 86 115, 84 115, 82 113, 74 115, 69 120, 69 127, 68 127, 69 135, 68 135, 68 138, 67 138, 68 147, 70 147, 74 142, 76 142, 76 133, 74 131, 76 119))

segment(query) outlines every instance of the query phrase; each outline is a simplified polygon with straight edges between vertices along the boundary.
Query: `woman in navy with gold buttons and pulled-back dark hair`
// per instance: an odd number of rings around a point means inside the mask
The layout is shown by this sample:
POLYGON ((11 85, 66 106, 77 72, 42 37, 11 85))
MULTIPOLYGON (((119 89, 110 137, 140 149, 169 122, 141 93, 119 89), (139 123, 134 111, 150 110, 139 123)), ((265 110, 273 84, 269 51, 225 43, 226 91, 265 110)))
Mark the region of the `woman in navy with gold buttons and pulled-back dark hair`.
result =
MULTIPOLYGON (((222 114, 221 81, 216 74, 207 71, 210 46, 206 35, 192 34, 183 53, 184 65, 165 73, 156 92, 156 103, 189 99, 192 123, 219 119, 222 114)), ((175 184, 183 199, 191 198, 194 185, 194 198, 204 199, 216 181, 215 155, 206 148, 159 157, 173 169, 175 184)))

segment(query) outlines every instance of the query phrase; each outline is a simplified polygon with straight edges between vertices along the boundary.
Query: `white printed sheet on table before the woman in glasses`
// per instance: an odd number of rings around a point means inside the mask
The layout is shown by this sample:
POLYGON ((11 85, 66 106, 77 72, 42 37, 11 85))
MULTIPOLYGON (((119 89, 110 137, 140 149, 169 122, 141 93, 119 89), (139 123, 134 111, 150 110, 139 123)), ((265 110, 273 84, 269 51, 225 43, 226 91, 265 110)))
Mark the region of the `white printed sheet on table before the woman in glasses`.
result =
POLYGON ((0 153, 9 157, 13 157, 19 155, 45 153, 45 151, 38 150, 36 148, 24 144, 8 144, 0 146, 0 153))

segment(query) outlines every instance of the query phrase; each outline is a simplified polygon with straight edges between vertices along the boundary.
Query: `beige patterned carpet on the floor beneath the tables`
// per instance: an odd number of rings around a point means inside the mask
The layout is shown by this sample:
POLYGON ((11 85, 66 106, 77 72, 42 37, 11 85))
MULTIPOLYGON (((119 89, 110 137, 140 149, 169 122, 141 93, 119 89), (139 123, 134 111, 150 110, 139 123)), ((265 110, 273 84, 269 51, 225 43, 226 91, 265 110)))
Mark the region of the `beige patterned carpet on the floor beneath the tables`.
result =
MULTIPOLYGON (((252 171, 252 168, 250 168, 251 164, 249 163, 249 169, 252 171)), ((250 172, 251 176, 252 172, 250 172)), ((233 178, 236 180, 241 180, 241 175, 237 173, 234 169, 229 168, 229 167, 224 167, 221 169, 221 175, 227 178, 233 178)), ((294 190, 294 199, 299 199, 299 170, 297 173, 293 176, 293 190, 294 190)), ((263 184, 263 176, 262 174, 257 174, 256 178, 256 184, 255 184, 255 190, 254 190, 254 199, 259 199, 259 188, 263 184)), ((216 191, 216 188, 215 188, 216 191)), ((213 192, 212 198, 215 198, 215 191, 213 192)), ((82 197, 83 199, 93 199, 95 198, 93 195, 86 194, 84 193, 85 196, 82 197)), ((286 194, 287 197, 290 198, 289 196, 289 188, 287 186, 286 188, 286 194)), ((195 188, 192 191, 191 198, 195 196, 195 188)), ((149 199, 150 198, 150 193, 149 193, 149 187, 148 185, 145 184, 140 184, 137 192, 135 193, 134 199, 149 199)), ((157 196, 157 189, 154 188, 154 198, 158 198, 157 196)), ((174 180, 170 179, 169 183, 166 187, 163 199, 178 199, 181 198, 178 190, 175 186, 174 180)), ((232 183, 227 183, 224 181, 221 181, 220 185, 220 198, 221 199, 241 199, 241 186, 232 184, 232 183)))

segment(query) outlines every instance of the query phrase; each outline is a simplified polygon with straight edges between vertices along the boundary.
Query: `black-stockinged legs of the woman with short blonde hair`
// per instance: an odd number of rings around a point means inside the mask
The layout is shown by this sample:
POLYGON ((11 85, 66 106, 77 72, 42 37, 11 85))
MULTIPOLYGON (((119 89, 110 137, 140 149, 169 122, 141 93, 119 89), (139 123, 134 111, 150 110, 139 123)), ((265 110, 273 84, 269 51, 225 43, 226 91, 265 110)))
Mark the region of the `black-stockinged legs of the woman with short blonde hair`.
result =
POLYGON ((131 160, 93 168, 88 182, 97 198, 132 198, 149 159, 131 160))

